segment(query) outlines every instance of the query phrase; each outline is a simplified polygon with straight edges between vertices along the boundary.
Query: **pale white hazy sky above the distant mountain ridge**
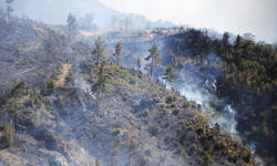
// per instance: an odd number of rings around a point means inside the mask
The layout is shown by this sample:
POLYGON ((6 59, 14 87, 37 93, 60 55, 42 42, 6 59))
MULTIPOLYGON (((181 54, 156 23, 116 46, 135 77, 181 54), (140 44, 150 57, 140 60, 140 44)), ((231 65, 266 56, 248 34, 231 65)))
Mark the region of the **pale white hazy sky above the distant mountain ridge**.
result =
POLYGON ((99 0, 114 10, 277 42, 277 0, 99 0))

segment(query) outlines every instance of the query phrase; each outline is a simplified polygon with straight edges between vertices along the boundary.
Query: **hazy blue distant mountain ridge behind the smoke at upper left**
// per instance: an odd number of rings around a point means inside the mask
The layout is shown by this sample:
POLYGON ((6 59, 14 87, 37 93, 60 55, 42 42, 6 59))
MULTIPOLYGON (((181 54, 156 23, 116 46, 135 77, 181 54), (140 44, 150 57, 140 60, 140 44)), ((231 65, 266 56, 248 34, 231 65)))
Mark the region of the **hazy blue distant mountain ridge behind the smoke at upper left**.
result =
MULTIPOLYGON (((1 1, 0 4, 2 10, 6 10, 7 4, 3 1, 1 1)), ((106 7, 98 0, 80 0, 78 2, 73 0, 16 0, 11 3, 11 6, 14 9, 12 12, 14 15, 21 17, 25 14, 30 19, 52 24, 65 24, 66 17, 70 12, 76 15, 76 18, 82 18, 86 13, 94 12, 96 24, 101 29, 107 29, 111 27, 112 15, 116 18, 117 24, 119 22, 125 21, 125 15, 131 17, 133 19, 133 28, 135 29, 145 29, 147 22, 151 28, 168 28, 175 25, 170 21, 163 22, 162 20, 158 20, 156 22, 152 22, 148 21, 145 15, 141 14, 122 13, 106 7)), ((119 29, 119 25, 116 28, 119 29)))

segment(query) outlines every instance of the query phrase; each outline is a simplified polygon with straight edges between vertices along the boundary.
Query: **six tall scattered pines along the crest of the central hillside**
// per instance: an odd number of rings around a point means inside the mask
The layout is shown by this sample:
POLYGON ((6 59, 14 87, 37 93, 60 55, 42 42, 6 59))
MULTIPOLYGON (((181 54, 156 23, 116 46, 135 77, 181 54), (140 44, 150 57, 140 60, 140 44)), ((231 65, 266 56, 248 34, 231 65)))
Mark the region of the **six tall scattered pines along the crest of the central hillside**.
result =
MULTIPOLYGON (((104 51, 105 51, 105 44, 104 41, 101 40, 101 37, 99 37, 95 41, 95 49, 93 49, 92 51, 92 59, 96 61, 96 65, 100 64, 100 59, 101 58, 105 58, 104 51)), ((123 46, 121 45, 120 42, 117 42, 117 44, 114 45, 115 49, 115 53, 113 53, 113 58, 114 61, 117 65, 120 65, 120 62, 124 61, 124 54, 123 53, 123 46)), ((147 61, 148 63, 145 65, 146 71, 150 72, 150 76, 152 77, 154 68, 156 64, 162 62, 162 54, 160 52, 160 50, 157 49, 157 45, 154 43, 153 46, 151 49, 148 49, 150 55, 147 58, 145 58, 144 60, 147 61)), ((100 69, 96 71, 96 75, 99 77, 99 81, 95 82, 92 85, 92 93, 96 95, 96 102, 99 103, 99 100, 102 98, 102 93, 109 93, 113 91, 113 87, 111 85, 109 85, 110 80, 111 80, 111 75, 109 75, 104 69, 105 62, 102 61, 100 69)), ((138 54, 137 56, 137 70, 140 71, 141 66, 142 66, 142 59, 141 55, 138 54)), ((168 65, 165 70, 166 72, 163 74, 163 80, 165 80, 165 85, 164 85, 164 91, 163 91, 163 95, 164 96, 164 92, 166 89, 166 84, 167 82, 170 84, 173 84, 175 79, 176 79, 176 74, 175 71, 173 70, 172 65, 168 65)))

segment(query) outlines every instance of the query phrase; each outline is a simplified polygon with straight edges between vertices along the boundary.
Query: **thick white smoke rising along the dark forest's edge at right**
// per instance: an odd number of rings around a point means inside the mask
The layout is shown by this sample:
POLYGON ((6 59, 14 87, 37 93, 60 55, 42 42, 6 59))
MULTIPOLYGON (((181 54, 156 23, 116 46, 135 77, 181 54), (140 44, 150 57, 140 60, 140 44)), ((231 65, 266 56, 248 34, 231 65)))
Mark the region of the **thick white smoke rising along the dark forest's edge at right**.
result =
MULTIPOLYGON (((188 70, 187 69, 184 70, 184 72, 186 72, 184 73, 184 75, 193 73, 194 72, 193 68, 194 66, 189 68, 188 70)), ((198 79, 197 76, 192 76, 192 77, 187 76, 186 79, 183 80, 185 83, 183 83, 182 85, 175 84, 174 89, 179 91, 181 94, 184 95, 188 101, 194 101, 196 104, 202 105, 203 113, 212 117, 209 122, 211 126, 214 126, 217 123, 220 125, 223 131, 226 131, 230 135, 239 134, 236 131, 237 126, 237 122, 235 120, 236 111, 232 107, 232 105, 226 104, 224 106, 218 106, 218 107, 214 107, 214 105, 211 105, 211 102, 216 103, 216 101, 218 101, 217 97, 213 95, 213 93, 216 93, 216 82, 217 82, 217 80, 213 75, 208 74, 208 79, 206 79, 206 81, 204 82, 204 86, 201 86, 201 84, 197 85, 197 82, 201 82, 201 79, 198 79), (216 115, 215 112, 217 113, 216 115)))

